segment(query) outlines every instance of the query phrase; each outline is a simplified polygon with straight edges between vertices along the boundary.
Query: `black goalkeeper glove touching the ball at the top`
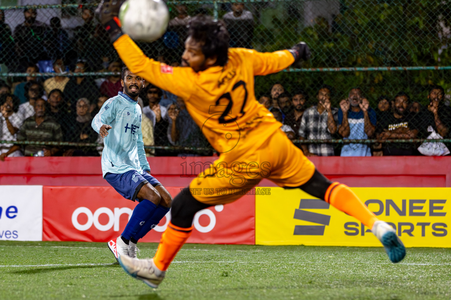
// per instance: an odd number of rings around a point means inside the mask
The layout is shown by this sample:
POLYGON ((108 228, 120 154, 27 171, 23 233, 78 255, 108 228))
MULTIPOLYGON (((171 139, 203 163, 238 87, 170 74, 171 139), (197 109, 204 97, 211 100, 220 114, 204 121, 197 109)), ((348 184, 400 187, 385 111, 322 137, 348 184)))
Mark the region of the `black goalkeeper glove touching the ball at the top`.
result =
POLYGON ((111 43, 123 34, 120 29, 119 18, 117 17, 122 2, 121 0, 102 0, 96 9, 97 20, 99 20, 103 27, 105 27, 105 30, 110 34, 111 43))

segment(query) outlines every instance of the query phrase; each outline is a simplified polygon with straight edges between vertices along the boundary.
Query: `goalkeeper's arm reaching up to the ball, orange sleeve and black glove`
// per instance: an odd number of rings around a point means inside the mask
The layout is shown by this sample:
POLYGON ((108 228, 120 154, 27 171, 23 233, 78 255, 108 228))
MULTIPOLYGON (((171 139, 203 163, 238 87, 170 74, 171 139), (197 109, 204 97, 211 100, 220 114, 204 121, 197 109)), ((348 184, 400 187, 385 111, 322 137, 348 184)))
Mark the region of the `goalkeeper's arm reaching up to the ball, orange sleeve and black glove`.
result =
POLYGON ((195 72, 188 67, 170 67, 148 58, 128 35, 123 34, 117 18, 120 2, 102 0, 96 9, 96 16, 110 34, 110 40, 124 64, 153 85, 184 99, 189 98, 195 72))

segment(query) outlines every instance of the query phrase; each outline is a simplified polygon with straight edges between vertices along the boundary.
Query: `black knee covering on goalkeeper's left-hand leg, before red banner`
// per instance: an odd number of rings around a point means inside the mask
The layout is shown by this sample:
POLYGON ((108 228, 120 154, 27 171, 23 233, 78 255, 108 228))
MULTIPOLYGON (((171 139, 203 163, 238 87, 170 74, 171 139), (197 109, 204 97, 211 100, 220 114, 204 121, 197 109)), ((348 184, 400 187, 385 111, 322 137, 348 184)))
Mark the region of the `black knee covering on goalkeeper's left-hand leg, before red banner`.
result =
POLYGON ((181 228, 189 228, 193 224, 194 215, 211 205, 194 199, 189 188, 184 188, 175 196, 171 207, 171 223, 181 228))

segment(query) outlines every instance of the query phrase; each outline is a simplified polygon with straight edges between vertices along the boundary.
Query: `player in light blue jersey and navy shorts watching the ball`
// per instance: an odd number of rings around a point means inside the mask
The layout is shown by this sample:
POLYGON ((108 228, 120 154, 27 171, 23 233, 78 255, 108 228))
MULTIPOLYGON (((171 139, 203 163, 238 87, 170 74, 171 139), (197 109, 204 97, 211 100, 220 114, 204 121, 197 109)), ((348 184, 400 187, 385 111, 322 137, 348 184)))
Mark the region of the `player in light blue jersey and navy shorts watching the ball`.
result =
POLYGON ((136 258, 136 243, 154 228, 170 209, 172 197, 150 175, 141 132, 141 107, 138 95, 144 80, 122 69, 123 92, 108 99, 92 120, 92 128, 104 138, 103 178, 127 199, 138 200, 124 232, 108 242, 116 260, 120 255, 136 258))

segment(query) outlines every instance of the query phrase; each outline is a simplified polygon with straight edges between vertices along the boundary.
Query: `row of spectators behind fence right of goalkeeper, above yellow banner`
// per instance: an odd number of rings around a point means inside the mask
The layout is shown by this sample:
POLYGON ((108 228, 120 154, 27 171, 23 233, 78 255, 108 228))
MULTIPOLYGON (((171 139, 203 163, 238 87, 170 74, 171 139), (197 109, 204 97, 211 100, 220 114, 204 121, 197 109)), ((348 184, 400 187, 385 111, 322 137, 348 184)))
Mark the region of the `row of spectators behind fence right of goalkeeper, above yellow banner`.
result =
MULTIPOLYGON (((272 85, 269 94, 258 101, 283 124, 281 129, 292 139, 316 140, 300 143, 306 156, 399 156, 450 154, 449 143, 442 142, 392 142, 401 139, 449 139, 451 107, 445 103, 445 91, 439 85, 430 87, 427 106, 412 102, 403 91, 393 96, 377 99, 377 107, 370 107, 361 88, 350 89, 348 97, 331 105, 333 88, 322 85, 316 100, 309 102, 303 90, 292 95, 281 85, 272 85), (377 139, 377 143, 345 143, 337 147, 332 139, 377 139), (324 143, 321 143, 324 140, 324 143)), ((426 101, 425 101, 426 102, 426 101)))

